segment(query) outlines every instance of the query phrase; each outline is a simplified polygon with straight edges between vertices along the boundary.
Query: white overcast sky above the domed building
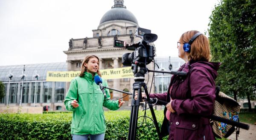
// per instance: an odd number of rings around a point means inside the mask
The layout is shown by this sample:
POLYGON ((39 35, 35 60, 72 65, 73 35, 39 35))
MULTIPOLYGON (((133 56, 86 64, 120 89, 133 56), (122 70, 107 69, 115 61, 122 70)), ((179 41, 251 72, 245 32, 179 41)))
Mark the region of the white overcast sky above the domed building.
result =
MULTIPOLYGON (((157 34, 157 56, 177 56, 185 31, 207 31, 219 0, 124 0, 157 34)), ((93 37, 114 0, 0 0, 0 66, 66 62, 69 39, 93 37)))

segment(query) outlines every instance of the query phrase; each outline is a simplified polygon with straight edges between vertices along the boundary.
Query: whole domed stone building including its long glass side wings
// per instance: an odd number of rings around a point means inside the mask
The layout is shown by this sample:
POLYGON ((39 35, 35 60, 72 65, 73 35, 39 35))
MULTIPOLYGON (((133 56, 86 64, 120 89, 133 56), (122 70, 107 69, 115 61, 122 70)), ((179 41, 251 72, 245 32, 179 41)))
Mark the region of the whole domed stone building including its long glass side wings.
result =
MULTIPOLYGON (((123 3, 124 0, 114 0, 111 9, 99 19, 98 28, 93 30, 93 37, 70 39, 69 48, 64 51, 67 54, 66 62, 0 66, 0 81, 5 87, 5 96, 0 98, 0 112, 6 112, 6 110, 17 112, 20 106, 22 106, 21 112, 26 113, 42 113, 43 109, 44 111, 64 111, 64 98, 70 82, 49 81, 47 80, 48 72, 80 71, 81 63, 87 55, 99 57, 100 70, 125 67, 122 65, 122 55, 131 53, 132 50, 114 48, 113 40, 134 43, 138 42, 140 37, 134 36, 139 27, 138 21, 123 3)), ((160 66, 169 65, 167 63, 172 62, 168 58, 159 60, 157 61, 157 57, 155 57, 155 62, 158 62, 160 66), (165 63, 161 64, 162 62, 165 63)), ((177 63, 177 67, 179 64, 177 63)), ((151 70, 154 69, 152 63, 147 67, 151 70)), ((152 76, 153 73, 145 74, 145 83, 148 83, 148 89, 151 87, 152 76)), ((155 73, 155 82, 153 82, 151 92, 166 92, 169 78, 170 75, 155 73), (154 90, 155 87, 157 90, 154 90)), ((114 79, 113 77, 107 81, 108 86, 113 89, 133 91, 134 78, 114 79)), ((110 92, 112 99, 122 98, 126 95, 113 90, 110 92)), ((128 95, 122 99, 125 101, 122 109, 131 109, 131 98, 131 95, 128 95)))

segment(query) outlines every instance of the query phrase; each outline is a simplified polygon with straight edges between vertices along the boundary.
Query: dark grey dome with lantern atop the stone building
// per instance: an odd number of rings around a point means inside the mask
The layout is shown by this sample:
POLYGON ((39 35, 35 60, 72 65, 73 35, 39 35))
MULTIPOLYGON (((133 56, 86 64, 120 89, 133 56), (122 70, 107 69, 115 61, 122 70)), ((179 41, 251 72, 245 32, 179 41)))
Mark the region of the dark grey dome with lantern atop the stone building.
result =
POLYGON ((101 25, 104 22, 112 21, 112 20, 126 20, 130 22, 134 22, 138 25, 138 21, 134 14, 126 9, 126 6, 123 5, 123 0, 114 0, 115 5, 112 6, 111 10, 107 11, 102 19, 99 22, 101 25))

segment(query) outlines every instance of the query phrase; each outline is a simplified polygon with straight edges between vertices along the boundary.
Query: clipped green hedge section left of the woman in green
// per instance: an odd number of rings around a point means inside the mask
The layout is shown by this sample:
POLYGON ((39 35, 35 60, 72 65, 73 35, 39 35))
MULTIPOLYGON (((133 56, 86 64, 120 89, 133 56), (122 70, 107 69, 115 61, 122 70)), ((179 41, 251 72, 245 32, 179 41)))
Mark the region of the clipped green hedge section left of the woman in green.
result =
POLYGON ((33 115, 1 114, 1 140, 70 139, 72 113, 33 115))

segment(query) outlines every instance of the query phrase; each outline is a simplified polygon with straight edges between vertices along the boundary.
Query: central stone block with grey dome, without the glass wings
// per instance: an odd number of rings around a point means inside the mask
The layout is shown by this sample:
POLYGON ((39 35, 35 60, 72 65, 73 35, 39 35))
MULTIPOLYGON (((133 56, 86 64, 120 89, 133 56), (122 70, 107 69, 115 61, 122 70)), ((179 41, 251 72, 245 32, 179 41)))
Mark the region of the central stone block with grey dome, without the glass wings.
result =
MULTIPOLYGON (((70 39, 70 48, 64 53, 67 54, 67 69, 77 71, 81 68, 81 62, 87 55, 96 55, 100 59, 100 69, 112 69, 123 67, 122 54, 131 53, 131 50, 114 48, 114 39, 122 40, 127 43, 134 43, 140 40, 140 37, 134 36, 138 25, 137 18, 131 11, 124 6, 124 0, 114 0, 114 5, 101 18, 99 26, 93 30, 93 37, 83 39, 70 39)), ((152 68, 148 64, 147 67, 152 68)), ((149 73, 152 77, 153 73, 149 73)), ((147 75, 145 75, 145 79, 147 75)), ((109 79, 108 86, 117 90, 132 92, 133 78, 109 79)), ((151 78, 148 83, 151 84, 151 78)), ((67 82, 68 89, 70 82, 67 82)), ((149 85, 148 85, 149 86, 149 85)), ((152 86, 154 91, 154 85, 152 86)), ((121 98, 126 94, 112 91, 111 98, 121 98)), ((131 97, 126 96, 123 100, 129 101, 131 97)))

